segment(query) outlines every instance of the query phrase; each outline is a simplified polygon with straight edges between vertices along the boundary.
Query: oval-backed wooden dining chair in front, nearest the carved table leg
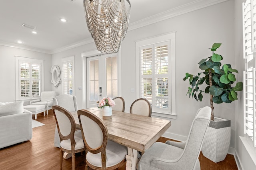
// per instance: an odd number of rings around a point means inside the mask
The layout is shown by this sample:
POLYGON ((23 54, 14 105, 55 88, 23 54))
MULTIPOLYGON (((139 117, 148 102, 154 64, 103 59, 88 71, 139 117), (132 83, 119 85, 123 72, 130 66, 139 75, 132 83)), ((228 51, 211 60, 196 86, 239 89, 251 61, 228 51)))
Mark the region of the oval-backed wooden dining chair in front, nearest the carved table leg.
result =
POLYGON ((108 140, 104 122, 87 110, 78 110, 85 147, 86 170, 114 170, 126 161, 127 147, 108 140))

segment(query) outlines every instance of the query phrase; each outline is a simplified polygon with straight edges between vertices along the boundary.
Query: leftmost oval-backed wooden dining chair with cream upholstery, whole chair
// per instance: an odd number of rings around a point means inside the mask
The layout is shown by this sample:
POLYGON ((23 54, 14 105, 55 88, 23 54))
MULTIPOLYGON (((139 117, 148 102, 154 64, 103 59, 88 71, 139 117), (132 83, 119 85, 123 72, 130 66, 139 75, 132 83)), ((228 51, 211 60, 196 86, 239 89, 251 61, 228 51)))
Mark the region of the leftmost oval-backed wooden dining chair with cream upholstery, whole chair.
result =
POLYGON ((52 106, 52 111, 56 120, 60 137, 60 170, 62 169, 63 153, 71 153, 72 170, 75 170, 75 153, 84 151, 84 142, 80 130, 76 131, 74 117, 69 111, 60 106, 52 106))

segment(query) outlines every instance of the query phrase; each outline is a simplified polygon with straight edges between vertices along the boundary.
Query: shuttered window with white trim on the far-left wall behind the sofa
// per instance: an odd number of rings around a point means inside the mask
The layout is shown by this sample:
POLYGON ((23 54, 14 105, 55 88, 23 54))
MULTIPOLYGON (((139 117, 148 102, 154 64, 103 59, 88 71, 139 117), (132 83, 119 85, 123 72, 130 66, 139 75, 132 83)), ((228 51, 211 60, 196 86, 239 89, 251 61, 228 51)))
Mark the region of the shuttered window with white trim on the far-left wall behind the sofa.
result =
POLYGON ((16 100, 40 98, 44 80, 44 61, 15 56, 16 100))

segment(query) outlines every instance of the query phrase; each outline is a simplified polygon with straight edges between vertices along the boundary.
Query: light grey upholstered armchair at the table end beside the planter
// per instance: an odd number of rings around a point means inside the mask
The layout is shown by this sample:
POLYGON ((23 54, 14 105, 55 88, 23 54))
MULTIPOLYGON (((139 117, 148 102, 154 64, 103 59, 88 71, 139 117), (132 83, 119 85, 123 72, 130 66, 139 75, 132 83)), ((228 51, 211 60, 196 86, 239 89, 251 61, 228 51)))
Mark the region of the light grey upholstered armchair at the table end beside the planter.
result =
POLYGON ((199 154, 212 109, 200 109, 194 118, 185 142, 156 142, 142 155, 139 170, 200 170, 199 154))

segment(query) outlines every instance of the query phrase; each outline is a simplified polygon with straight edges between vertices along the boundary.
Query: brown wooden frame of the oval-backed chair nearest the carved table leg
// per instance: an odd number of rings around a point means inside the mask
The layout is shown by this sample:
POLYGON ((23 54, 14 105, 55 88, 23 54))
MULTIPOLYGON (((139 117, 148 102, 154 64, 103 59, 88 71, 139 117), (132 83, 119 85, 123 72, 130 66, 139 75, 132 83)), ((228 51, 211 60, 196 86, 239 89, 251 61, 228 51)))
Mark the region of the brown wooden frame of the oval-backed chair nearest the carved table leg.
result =
POLYGON ((106 168, 106 158, 107 158, 106 157, 106 146, 108 143, 108 129, 107 129, 106 125, 104 124, 104 122, 100 118, 98 118, 96 115, 94 115, 93 113, 91 113, 90 111, 87 111, 85 109, 78 110, 77 113, 78 113, 79 123, 81 126, 82 137, 84 140, 85 154, 87 154, 88 152, 91 152, 93 154, 97 154, 97 153, 101 152, 102 167, 94 166, 86 160, 86 170, 88 170, 88 166, 94 170, 114 170, 114 169, 120 167, 125 162, 125 159, 114 166, 110 166, 110 167, 106 168), (90 119, 92 119, 94 122, 96 122, 99 125, 100 129, 102 130, 102 133, 103 133, 102 145, 100 147, 98 147, 97 149, 92 149, 86 142, 86 139, 84 137, 82 123, 81 123, 81 118, 80 118, 81 115, 87 116, 90 119))

